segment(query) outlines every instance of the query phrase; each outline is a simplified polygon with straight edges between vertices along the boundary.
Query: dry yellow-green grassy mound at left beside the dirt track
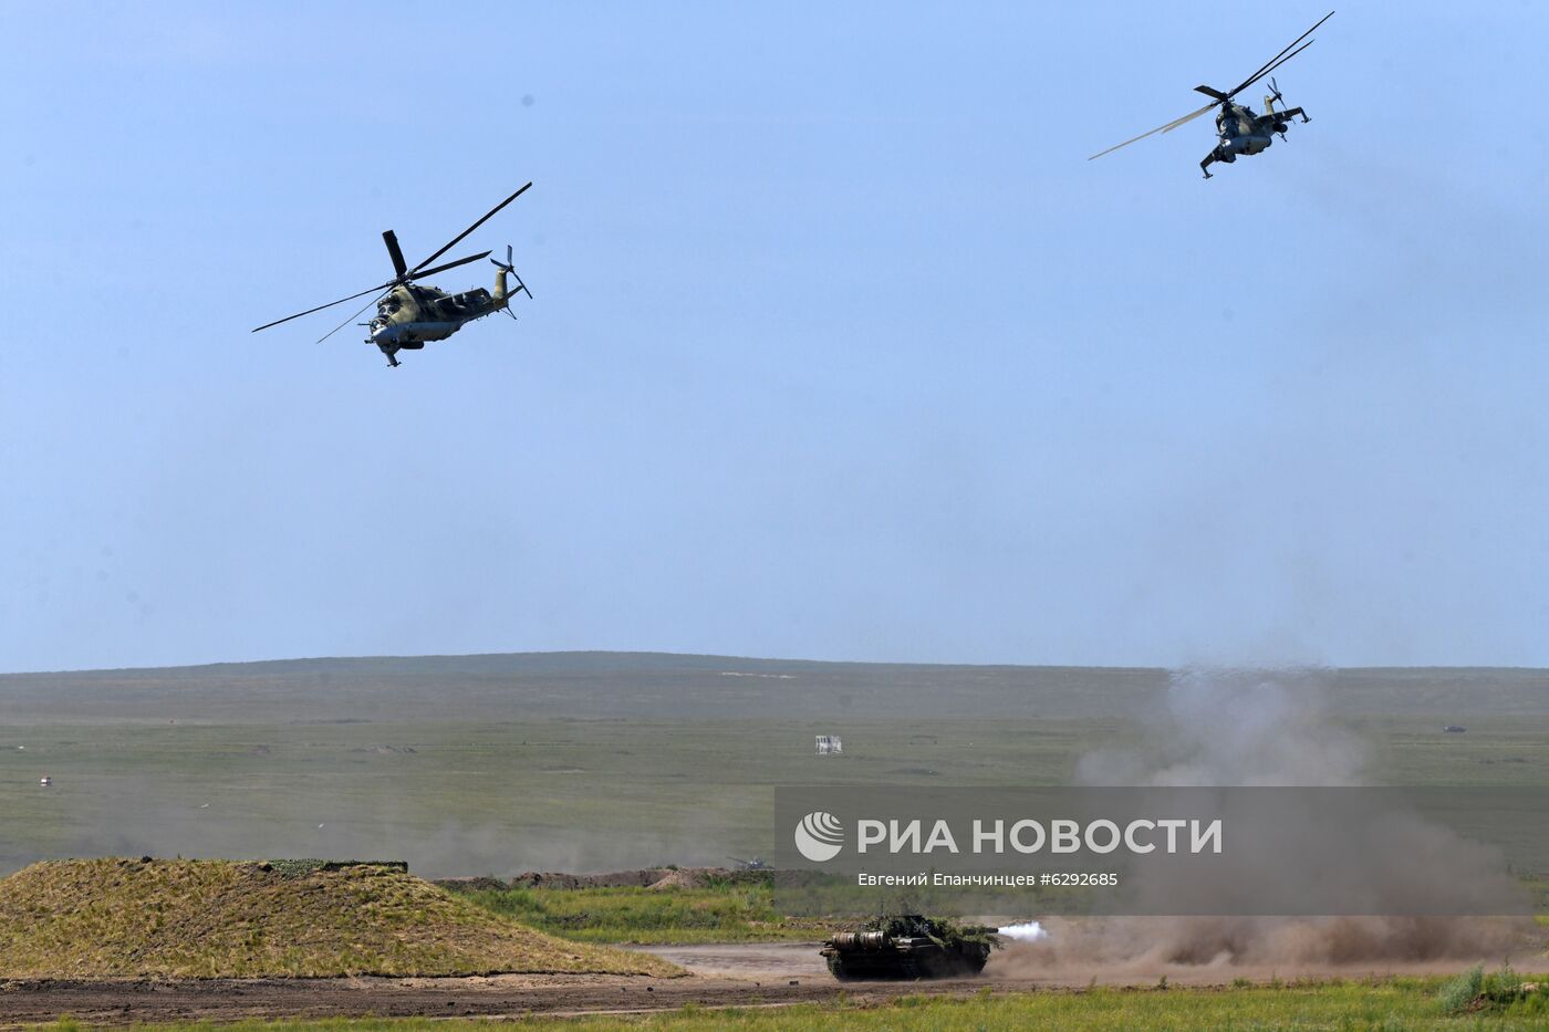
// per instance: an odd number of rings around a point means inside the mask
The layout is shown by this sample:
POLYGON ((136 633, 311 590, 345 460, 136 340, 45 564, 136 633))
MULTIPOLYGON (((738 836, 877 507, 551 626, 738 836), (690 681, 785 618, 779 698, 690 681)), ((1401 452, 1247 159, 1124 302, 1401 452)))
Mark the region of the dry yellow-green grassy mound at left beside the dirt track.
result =
POLYGON ((225 860, 64 860, 0 882, 0 978, 678 975, 533 931, 429 882, 225 860))

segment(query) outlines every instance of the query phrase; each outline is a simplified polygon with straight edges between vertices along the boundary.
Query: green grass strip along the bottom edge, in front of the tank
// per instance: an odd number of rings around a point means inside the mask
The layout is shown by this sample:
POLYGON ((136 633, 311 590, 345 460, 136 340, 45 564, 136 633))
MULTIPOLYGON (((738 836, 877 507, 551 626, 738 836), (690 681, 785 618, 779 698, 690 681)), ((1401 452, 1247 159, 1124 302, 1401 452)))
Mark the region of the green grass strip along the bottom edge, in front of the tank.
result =
MULTIPOLYGON (((1371 982, 1321 982, 1258 986, 1233 989, 1092 989, 1086 992, 982 992, 973 996, 903 996, 883 1006, 801 1004, 792 1007, 747 1007, 702 1010, 686 1007, 647 1015, 589 1018, 542 1018, 542 1027, 575 1032, 620 1029, 663 1029, 669 1032, 826 1032, 843 1027, 853 1032, 981 1032, 984 1029, 1061 1029, 1063 1032, 1397 1032, 1434 1029, 1465 1032, 1516 1032, 1549 1027, 1549 1010, 1538 993, 1534 998, 1495 1010, 1450 1013, 1441 998, 1442 979, 1391 979, 1371 982)), ((79 1026, 60 1021, 43 1026, 51 1032, 74 1032, 79 1026)), ((455 1027, 488 1027, 488 1023, 424 1020, 333 1020, 237 1023, 222 1026, 173 1024, 138 1026, 144 1032, 161 1029, 189 1032, 446 1032, 455 1027)))

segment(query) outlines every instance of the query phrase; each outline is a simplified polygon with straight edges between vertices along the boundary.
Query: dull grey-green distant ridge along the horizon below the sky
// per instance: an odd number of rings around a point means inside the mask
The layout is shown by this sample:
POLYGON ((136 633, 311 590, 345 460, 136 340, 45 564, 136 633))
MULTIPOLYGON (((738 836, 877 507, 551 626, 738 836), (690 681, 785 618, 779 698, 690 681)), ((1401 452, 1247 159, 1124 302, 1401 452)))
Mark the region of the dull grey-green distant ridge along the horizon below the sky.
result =
MULTIPOLYGON (((1272 671, 1315 683, 1345 713, 1540 714, 1549 671, 1327 668, 1272 671)), ((1143 666, 840 663, 669 652, 510 652, 209 663, 0 674, 8 722, 459 722, 533 717, 832 721, 1109 719, 1166 691, 1143 666)), ((810 741, 810 739, 809 739, 810 741)))

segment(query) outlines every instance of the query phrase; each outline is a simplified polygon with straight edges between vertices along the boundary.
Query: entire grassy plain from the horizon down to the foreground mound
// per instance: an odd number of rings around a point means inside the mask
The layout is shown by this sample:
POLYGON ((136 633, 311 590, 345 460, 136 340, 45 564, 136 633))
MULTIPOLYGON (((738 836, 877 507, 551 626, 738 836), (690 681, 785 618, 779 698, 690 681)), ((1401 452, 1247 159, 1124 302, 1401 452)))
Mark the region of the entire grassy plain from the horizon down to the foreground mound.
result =
MULTIPOLYGON (((1543 671, 1312 680, 1369 783, 1549 784, 1543 671)), ((1165 690, 1145 669, 627 654, 0 676, 0 874, 104 854, 720 865, 770 851, 771 786, 1066 784, 1142 739, 1165 690), (815 758, 816 733, 844 756, 815 758)))

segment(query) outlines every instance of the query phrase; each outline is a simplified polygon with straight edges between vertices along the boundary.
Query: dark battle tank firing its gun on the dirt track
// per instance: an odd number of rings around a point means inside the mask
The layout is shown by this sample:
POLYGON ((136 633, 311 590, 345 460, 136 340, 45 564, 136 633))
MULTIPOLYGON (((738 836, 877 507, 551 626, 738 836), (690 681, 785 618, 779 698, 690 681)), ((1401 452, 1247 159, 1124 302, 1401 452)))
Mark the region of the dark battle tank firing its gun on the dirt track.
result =
POLYGON ((860 931, 840 931, 823 944, 829 972, 860 978, 960 978, 977 975, 999 948, 994 928, 954 925, 920 914, 875 917, 860 931))

